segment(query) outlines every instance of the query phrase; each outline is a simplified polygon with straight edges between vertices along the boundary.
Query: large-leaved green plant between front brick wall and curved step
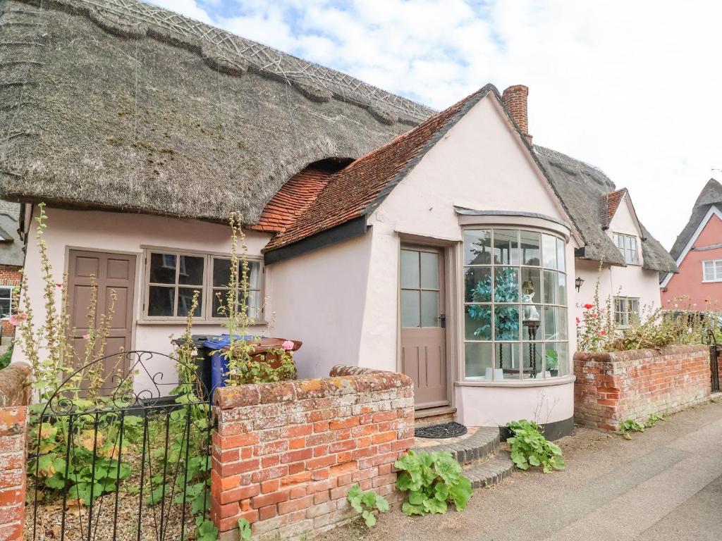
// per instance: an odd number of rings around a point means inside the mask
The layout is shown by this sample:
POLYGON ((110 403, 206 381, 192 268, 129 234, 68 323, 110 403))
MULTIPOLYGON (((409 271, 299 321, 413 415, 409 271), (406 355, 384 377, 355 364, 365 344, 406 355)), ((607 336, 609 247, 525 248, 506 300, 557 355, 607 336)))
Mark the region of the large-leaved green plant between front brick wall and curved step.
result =
POLYGON ((396 488, 409 492, 409 500, 401 506, 406 515, 445 513, 449 502, 464 511, 471 498, 471 481, 451 453, 409 451, 393 466, 402 470, 396 488))

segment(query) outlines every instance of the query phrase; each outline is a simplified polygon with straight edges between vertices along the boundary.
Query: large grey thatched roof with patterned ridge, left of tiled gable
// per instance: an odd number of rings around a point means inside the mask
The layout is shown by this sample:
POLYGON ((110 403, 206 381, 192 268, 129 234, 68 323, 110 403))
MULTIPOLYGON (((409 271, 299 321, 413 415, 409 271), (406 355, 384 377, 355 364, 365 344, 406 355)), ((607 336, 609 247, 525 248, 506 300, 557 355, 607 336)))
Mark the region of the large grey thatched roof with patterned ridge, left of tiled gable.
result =
POLYGON ((134 0, 0 0, 0 196, 258 220, 310 162, 433 113, 134 0))

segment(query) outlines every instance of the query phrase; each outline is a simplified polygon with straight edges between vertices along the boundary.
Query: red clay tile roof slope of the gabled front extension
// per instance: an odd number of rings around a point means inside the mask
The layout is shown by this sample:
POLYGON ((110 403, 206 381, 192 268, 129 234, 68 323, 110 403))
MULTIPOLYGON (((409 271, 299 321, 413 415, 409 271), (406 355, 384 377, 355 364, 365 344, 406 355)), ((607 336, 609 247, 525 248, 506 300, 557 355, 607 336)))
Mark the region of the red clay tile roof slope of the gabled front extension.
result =
POLYGON ((498 94, 489 84, 337 172, 318 197, 284 232, 271 239, 264 251, 277 250, 370 215, 427 149, 488 92, 498 94))

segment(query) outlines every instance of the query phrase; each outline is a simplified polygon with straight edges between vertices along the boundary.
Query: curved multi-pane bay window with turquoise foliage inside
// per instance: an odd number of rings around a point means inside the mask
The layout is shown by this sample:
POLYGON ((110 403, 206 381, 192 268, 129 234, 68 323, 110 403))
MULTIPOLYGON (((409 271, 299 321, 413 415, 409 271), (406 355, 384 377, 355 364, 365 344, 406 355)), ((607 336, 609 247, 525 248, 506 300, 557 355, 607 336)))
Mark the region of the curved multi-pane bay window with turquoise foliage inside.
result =
POLYGON ((464 372, 534 380, 569 372, 565 240, 530 229, 464 229, 464 372))

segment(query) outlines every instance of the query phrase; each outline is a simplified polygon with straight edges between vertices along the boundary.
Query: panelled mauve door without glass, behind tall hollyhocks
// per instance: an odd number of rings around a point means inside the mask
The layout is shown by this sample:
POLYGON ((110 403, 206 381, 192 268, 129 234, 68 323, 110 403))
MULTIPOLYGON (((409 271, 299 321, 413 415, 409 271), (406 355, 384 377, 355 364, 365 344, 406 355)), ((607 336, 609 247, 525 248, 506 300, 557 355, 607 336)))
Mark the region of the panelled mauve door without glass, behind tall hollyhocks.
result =
MULTIPOLYGON (((97 282, 97 309, 95 328, 100 326, 100 316, 108 312, 112 291, 116 292, 113 319, 105 346, 105 354, 113 355, 130 351, 133 332, 133 296, 135 291, 136 256, 105 252, 70 250, 68 265, 68 309, 70 312, 71 340, 77 359, 82 362, 85 351, 83 335, 88 333, 88 307, 92 296, 92 279, 97 282)), ((115 384, 110 379, 128 369, 128 360, 112 357, 103 361, 106 392, 115 384)), ((78 366, 79 367, 79 366, 78 366)), ((124 374, 123 374, 124 375, 124 374)))

